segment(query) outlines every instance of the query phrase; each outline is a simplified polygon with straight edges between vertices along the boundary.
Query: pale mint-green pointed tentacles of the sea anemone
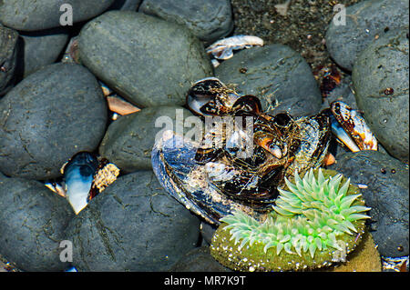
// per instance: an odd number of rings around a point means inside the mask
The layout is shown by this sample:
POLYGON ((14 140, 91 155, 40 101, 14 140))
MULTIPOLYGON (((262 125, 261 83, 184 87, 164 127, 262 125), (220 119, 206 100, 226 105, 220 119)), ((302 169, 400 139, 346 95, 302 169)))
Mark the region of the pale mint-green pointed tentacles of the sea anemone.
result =
POLYGON ((342 183, 343 175, 325 177, 321 168, 316 175, 311 169, 302 178, 295 172, 293 182, 285 179, 286 189, 279 189, 281 195, 263 222, 240 211, 224 216, 223 230, 239 245, 238 252, 259 244, 265 255, 272 249, 275 255, 283 251, 313 260, 318 251, 344 251, 345 235, 354 238, 363 232, 370 208, 364 206, 361 194, 349 191, 350 179, 342 183))

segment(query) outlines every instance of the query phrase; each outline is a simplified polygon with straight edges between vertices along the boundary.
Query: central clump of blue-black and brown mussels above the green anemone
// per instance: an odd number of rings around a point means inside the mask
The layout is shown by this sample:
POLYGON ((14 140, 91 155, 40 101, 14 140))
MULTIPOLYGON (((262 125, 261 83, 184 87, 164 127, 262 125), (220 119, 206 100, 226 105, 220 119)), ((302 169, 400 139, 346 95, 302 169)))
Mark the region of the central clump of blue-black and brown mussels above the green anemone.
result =
POLYGON ((284 177, 318 167, 327 153, 327 114, 266 115, 257 97, 239 95, 215 77, 193 85, 187 105, 212 125, 200 141, 165 131, 152 150, 153 170, 169 195, 212 224, 235 210, 262 219, 284 177), (227 117, 240 125, 227 130, 227 117))

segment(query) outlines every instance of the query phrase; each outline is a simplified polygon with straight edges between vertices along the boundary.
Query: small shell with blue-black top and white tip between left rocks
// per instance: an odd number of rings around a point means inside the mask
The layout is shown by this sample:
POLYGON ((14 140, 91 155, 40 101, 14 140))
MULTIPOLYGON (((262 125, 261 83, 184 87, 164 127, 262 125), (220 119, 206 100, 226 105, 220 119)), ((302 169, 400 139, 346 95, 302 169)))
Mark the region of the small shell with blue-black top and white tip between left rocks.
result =
POLYGON ((66 197, 76 214, 88 204, 88 195, 97 168, 97 156, 88 152, 77 153, 63 168, 66 197))

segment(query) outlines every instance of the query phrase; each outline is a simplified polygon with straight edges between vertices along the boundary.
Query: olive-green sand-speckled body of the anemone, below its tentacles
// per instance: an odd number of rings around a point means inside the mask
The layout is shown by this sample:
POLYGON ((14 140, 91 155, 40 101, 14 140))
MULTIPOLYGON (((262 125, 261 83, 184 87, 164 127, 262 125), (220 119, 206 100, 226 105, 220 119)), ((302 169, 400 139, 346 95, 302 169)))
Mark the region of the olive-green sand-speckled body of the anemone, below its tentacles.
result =
MULTIPOLYGON (((324 177, 336 174, 330 170, 323 171, 324 177)), ((345 182, 346 178, 343 177, 341 185, 345 182)), ((357 194, 359 194, 359 189, 354 185, 349 185, 345 195, 357 194)), ((353 205, 364 205, 364 201, 356 199, 353 205)), ((357 233, 337 235, 337 243, 343 245, 343 251, 336 251, 333 247, 328 246, 321 250, 316 249, 312 256, 309 250, 307 252, 301 251, 301 255, 298 255, 293 248, 291 251, 293 254, 283 249, 278 254, 276 246, 269 247, 265 251, 265 244, 258 240, 252 245, 247 243, 240 246, 240 243, 235 244, 235 239, 231 239, 231 230, 225 229, 227 224, 222 223, 212 238, 210 253, 220 264, 239 271, 295 271, 323 267, 331 265, 333 261, 343 261, 345 256, 360 243, 360 236, 364 234, 364 220, 352 221, 352 224, 357 233), (357 237, 356 235, 359 233, 361 235, 357 237)))

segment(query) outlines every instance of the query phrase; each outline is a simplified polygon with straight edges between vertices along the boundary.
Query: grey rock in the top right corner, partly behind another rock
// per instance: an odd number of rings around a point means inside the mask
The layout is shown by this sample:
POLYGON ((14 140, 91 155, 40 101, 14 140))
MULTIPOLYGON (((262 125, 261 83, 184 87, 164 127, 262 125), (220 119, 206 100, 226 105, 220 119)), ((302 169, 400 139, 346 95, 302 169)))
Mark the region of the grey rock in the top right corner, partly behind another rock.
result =
POLYGON ((388 30, 408 25, 408 0, 367 0, 346 7, 346 25, 326 32, 326 47, 334 61, 352 70, 356 57, 388 30))

